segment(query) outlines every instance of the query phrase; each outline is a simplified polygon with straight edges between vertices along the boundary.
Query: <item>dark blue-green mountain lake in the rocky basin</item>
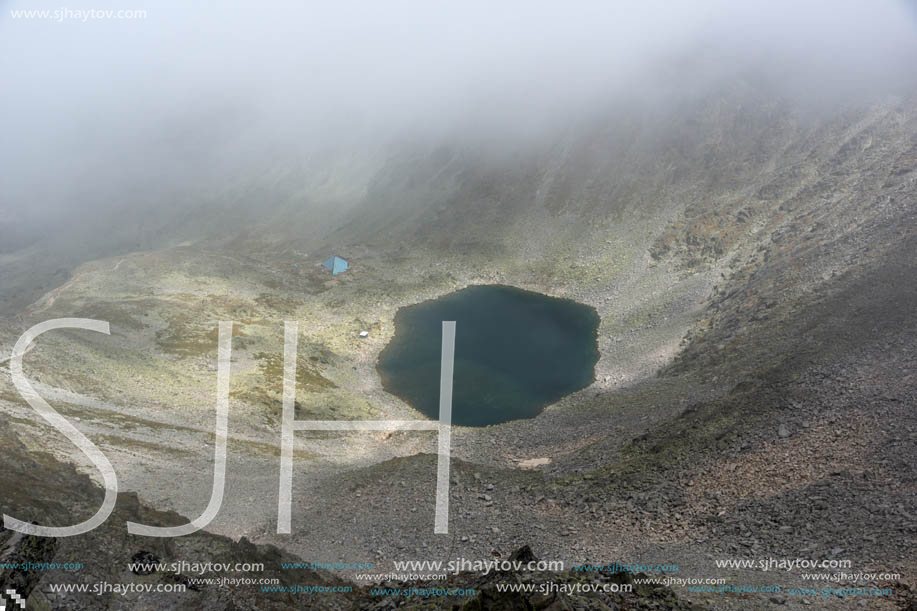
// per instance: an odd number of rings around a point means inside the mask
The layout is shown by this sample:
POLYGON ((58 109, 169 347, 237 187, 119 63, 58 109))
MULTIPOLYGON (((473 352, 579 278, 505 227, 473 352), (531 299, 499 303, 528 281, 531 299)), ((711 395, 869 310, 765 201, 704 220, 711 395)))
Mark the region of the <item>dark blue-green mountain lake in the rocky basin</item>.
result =
POLYGON ((454 424, 532 418, 594 380, 594 308, 510 286, 472 286, 398 310, 395 336, 379 356, 385 390, 432 419, 444 320, 456 323, 454 424))

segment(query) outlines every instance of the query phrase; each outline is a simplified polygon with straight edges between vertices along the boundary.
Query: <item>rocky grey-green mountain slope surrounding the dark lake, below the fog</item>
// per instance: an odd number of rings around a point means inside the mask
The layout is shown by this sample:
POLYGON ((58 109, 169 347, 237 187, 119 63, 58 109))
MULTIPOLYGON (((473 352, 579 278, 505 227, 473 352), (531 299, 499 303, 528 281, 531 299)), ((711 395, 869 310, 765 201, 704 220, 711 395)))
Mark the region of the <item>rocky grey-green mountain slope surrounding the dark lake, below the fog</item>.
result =
MULTIPOLYGON (((766 94, 738 81, 675 110, 619 102, 516 148, 411 143, 266 164, 193 206, 157 208, 142 248, 68 257, 72 272, 37 288, 5 284, 0 346, 49 318, 109 320, 110 337, 42 338, 27 373, 144 505, 196 515, 216 322, 236 321, 221 535, 390 566, 506 556, 534 531, 543 558, 653 559, 784 589, 811 582, 713 560, 851 558, 900 574, 871 607, 909 604, 917 102, 813 112, 766 94), (323 275, 328 254, 351 270, 323 275), (413 419, 374 368, 394 313, 490 282, 594 306, 596 382, 532 420, 456 428, 448 538, 432 533, 433 435, 301 433, 294 533, 277 536, 282 321, 302 332, 301 414, 413 419)), ((28 252, 3 255, 4 278, 27 277, 28 252)), ((75 460, 8 376, 0 407, 30 451, 75 460)), ((716 608, 843 604, 676 594, 716 608)))

